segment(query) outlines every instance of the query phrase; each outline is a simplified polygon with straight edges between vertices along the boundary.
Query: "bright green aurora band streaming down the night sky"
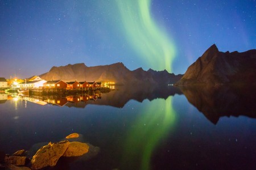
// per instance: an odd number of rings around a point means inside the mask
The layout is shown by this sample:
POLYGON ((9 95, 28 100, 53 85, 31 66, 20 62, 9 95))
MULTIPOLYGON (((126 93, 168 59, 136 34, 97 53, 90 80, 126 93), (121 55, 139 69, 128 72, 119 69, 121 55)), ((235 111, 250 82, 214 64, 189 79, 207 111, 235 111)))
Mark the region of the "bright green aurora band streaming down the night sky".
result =
POLYGON ((115 1, 121 15, 123 33, 148 67, 172 72, 175 45, 152 18, 151 0, 115 1))

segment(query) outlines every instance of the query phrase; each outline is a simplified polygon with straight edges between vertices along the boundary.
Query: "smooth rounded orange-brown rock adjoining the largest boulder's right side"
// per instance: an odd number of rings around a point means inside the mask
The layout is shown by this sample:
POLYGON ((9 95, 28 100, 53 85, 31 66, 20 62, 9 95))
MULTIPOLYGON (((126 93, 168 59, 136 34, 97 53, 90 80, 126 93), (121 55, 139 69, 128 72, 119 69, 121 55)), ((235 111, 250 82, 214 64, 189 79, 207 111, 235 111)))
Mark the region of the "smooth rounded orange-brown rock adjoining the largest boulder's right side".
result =
POLYGON ((89 146, 86 143, 70 142, 63 156, 81 156, 88 152, 89 146))

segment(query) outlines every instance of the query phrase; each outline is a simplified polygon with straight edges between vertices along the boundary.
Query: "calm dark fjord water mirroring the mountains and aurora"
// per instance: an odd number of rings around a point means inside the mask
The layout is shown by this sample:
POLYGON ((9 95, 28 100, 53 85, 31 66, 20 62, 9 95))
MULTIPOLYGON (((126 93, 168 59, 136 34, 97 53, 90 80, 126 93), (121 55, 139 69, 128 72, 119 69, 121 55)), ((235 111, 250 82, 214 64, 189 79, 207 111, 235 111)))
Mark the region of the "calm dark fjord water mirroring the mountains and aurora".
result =
POLYGON ((123 86, 100 96, 13 96, 0 102, 0 151, 79 133, 100 152, 50 169, 255 169, 254 92, 123 86))

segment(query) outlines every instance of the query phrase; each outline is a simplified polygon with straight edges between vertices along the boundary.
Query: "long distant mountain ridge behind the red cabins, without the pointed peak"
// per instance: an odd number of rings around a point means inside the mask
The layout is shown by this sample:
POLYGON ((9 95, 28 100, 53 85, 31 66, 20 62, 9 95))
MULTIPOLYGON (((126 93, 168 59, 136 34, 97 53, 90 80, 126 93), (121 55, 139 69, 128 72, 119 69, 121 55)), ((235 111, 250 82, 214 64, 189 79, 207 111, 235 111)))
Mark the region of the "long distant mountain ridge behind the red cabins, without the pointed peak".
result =
POLYGON ((70 81, 85 81, 86 82, 115 82, 115 84, 174 84, 182 75, 168 73, 168 71, 154 71, 149 69, 144 71, 142 68, 129 70, 118 62, 112 65, 92 66, 88 67, 84 63, 74 65, 53 66, 48 73, 39 75, 46 80, 64 80, 70 81))

